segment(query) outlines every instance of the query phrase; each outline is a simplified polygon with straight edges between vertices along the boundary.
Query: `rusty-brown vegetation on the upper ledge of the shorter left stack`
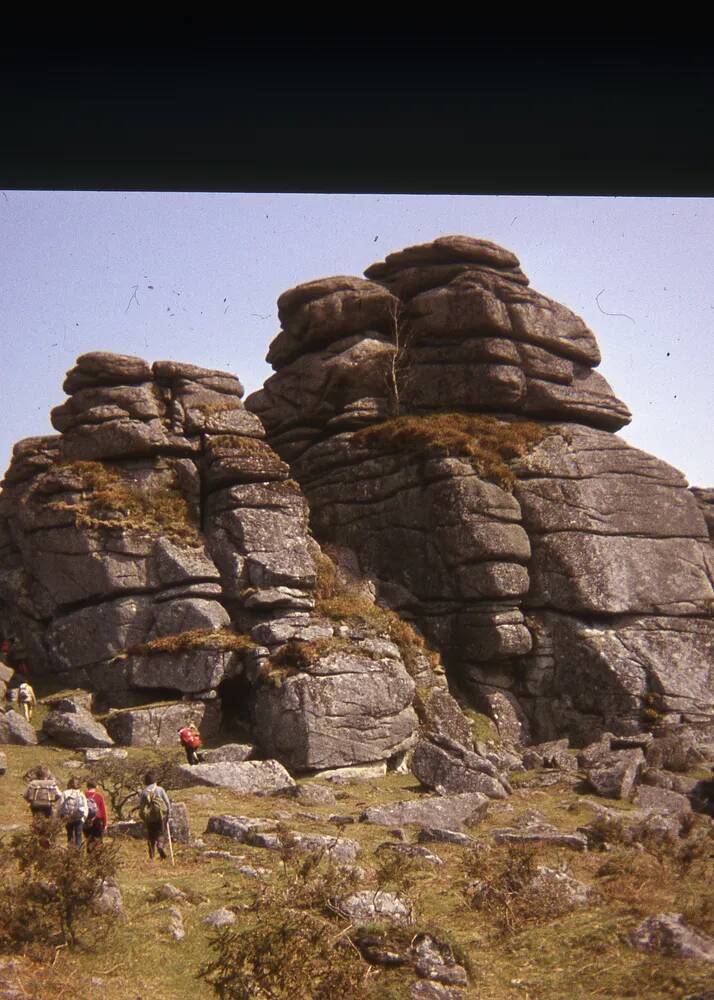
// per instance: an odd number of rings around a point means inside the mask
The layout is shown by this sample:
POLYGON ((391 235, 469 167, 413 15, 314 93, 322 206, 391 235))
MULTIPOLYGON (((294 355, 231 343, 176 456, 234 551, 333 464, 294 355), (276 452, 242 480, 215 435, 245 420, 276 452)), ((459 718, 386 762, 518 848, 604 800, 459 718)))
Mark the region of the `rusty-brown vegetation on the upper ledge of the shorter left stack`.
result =
POLYGON ((198 525, 178 489, 142 492, 103 462, 66 462, 59 466, 82 483, 78 500, 56 500, 52 510, 69 510, 81 528, 108 528, 163 535, 179 545, 201 544, 198 525))

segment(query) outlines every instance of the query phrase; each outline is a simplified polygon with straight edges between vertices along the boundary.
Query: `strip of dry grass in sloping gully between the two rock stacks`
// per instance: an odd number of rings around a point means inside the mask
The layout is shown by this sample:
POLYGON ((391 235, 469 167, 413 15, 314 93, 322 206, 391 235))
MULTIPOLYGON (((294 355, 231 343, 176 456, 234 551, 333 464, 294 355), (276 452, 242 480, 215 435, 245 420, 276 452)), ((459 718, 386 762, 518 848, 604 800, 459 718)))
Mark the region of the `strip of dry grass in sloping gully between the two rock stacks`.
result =
POLYGON ((398 647, 412 676, 424 669, 425 660, 432 670, 443 672, 439 654, 429 648, 424 637, 395 611, 380 607, 341 582, 335 564, 324 553, 317 561, 315 610, 333 621, 367 625, 386 635, 398 647))

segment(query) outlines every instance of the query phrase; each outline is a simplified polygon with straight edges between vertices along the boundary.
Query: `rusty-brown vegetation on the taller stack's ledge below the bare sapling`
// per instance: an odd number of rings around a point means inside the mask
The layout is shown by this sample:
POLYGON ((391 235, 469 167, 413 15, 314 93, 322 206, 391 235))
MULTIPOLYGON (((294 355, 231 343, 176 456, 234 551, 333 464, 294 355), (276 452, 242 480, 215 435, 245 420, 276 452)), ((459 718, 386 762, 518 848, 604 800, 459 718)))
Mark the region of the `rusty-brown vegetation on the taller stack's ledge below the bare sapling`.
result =
POLYGON ((532 451, 548 428, 531 420, 499 420, 469 413, 402 416, 357 431, 352 440, 366 448, 403 451, 421 458, 465 458, 484 479, 511 490, 509 463, 532 451))

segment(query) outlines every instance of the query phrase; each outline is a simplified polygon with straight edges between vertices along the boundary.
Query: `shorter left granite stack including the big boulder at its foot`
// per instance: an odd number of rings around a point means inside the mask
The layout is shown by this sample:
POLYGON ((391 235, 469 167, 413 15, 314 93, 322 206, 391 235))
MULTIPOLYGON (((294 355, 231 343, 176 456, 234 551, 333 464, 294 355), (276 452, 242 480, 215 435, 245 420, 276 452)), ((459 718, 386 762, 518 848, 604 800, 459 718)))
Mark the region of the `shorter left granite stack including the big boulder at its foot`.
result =
POLYGON ((16 445, 0 497, 0 616, 33 673, 99 692, 120 743, 174 744, 189 717, 211 735, 227 692, 246 715, 260 700, 256 741, 296 767, 386 760, 413 743, 416 685, 399 651, 367 650, 368 630, 347 628, 331 655, 339 626, 314 613, 305 498, 238 379, 93 353, 64 388, 59 435, 16 445), (316 638, 301 676, 276 683, 271 656, 316 638), (327 694, 341 704, 360 671, 379 698, 362 685, 349 713, 327 718, 327 694))

